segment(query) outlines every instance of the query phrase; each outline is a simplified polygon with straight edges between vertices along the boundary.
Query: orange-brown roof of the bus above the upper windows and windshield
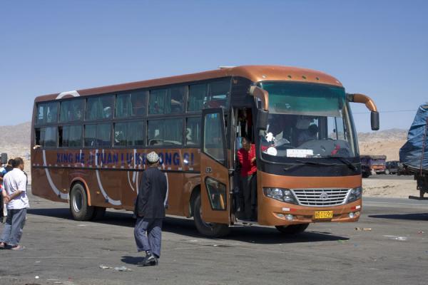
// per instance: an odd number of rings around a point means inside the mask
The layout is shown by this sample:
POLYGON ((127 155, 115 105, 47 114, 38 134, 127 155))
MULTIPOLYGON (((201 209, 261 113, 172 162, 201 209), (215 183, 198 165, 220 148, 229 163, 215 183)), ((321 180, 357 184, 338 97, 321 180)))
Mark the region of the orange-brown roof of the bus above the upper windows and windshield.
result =
POLYGON ((74 95, 97 95, 103 93, 114 93, 121 90, 134 90, 139 88, 151 88, 156 86, 167 86, 170 84, 201 81, 213 78, 238 76, 248 78, 250 81, 297 81, 309 83, 322 83, 333 86, 342 86, 336 78, 320 71, 307 68, 296 68, 290 66, 236 66, 220 68, 214 71, 185 74, 182 76, 170 76, 151 79, 147 81, 136 81, 131 83, 116 84, 81 90, 73 90, 63 93, 54 93, 36 97, 35 102, 66 98, 74 95))

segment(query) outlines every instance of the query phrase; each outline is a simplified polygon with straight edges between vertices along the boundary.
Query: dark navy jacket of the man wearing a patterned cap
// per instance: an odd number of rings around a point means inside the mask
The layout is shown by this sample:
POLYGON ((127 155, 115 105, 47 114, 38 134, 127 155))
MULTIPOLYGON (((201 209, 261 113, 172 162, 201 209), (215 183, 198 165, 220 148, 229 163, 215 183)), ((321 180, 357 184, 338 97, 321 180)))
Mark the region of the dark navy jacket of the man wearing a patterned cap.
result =
POLYGON ((167 195, 166 177, 156 167, 143 172, 134 214, 146 219, 163 219, 167 195))

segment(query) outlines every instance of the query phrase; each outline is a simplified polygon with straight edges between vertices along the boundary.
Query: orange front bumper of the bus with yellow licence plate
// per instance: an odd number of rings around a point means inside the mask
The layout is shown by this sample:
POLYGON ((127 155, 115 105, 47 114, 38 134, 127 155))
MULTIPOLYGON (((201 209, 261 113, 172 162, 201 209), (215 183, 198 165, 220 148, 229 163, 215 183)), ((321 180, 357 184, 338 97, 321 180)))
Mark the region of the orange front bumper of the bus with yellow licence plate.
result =
MULTIPOLYGON (((362 210, 362 199, 335 207, 307 207, 287 204, 274 199, 269 207, 259 210, 259 224, 286 226, 312 222, 357 222, 362 210)), ((265 201, 266 202, 266 201, 265 201)))

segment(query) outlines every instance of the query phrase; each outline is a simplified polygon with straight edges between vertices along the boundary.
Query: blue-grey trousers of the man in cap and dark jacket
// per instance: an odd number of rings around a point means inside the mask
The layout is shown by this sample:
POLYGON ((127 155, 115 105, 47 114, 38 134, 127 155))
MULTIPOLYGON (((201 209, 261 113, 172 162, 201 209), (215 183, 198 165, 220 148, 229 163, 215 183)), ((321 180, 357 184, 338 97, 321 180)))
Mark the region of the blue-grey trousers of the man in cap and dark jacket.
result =
POLYGON ((151 252, 161 257, 162 222, 163 219, 137 218, 134 237, 138 252, 151 252))

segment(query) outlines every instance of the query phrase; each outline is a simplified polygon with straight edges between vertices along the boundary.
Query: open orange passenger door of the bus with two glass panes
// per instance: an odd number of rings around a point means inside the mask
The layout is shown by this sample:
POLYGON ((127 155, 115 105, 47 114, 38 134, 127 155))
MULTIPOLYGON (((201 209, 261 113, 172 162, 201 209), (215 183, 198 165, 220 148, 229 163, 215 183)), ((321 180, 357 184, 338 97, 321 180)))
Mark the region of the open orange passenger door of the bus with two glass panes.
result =
POLYGON ((223 108, 203 110, 200 198, 204 222, 230 224, 230 175, 225 133, 223 108))

